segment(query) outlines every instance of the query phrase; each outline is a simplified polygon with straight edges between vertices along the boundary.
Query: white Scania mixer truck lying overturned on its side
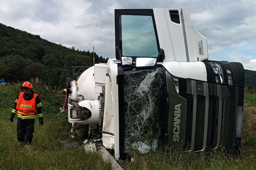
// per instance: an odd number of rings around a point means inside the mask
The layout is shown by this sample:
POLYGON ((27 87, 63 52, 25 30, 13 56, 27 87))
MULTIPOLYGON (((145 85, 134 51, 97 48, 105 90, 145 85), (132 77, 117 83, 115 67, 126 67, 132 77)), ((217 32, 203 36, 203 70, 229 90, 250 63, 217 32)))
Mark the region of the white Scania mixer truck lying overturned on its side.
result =
POLYGON ((115 10, 115 59, 67 79, 68 121, 114 150, 238 152, 244 69, 208 58, 188 9, 115 10))

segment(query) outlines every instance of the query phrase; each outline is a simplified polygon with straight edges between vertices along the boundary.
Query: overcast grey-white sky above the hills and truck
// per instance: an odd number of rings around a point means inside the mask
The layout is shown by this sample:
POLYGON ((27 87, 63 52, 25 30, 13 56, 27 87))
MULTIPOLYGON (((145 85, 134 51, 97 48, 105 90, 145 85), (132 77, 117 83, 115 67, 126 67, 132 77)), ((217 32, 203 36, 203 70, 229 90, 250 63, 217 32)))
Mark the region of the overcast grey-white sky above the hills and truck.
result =
POLYGON ((114 9, 189 8, 210 60, 256 71, 255 0, 0 0, 0 23, 115 58, 114 9))

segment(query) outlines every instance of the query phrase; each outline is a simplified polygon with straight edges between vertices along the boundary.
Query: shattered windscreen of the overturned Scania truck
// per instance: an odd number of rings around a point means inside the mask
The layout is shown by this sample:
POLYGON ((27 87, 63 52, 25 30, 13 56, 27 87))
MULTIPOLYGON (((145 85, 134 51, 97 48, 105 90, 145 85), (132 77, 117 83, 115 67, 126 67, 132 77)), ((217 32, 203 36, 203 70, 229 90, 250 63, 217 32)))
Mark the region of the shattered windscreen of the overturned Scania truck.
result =
POLYGON ((160 125, 159 95, 163 70, 125 71, 125 148, 145 154, 156 150, 160 125))

